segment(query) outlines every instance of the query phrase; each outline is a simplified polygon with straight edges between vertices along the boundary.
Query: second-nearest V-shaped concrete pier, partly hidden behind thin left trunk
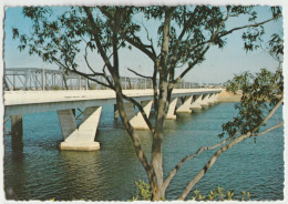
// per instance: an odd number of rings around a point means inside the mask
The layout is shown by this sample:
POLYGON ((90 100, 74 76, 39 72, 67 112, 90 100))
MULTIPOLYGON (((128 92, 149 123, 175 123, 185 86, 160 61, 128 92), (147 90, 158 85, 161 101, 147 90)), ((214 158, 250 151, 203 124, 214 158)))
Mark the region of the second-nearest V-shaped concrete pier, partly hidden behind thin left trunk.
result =
MULTIPOLYGON (((147 118, 150 116, 151 108, 152 108, 153 101, 142 101, 141 105, 144 109, 144 112, 146 113, 147 118)), ((126 110, 127 118, 130 120, 130 124, 137 130, 148 130, 148 125, 146 124, 143 115, 141 112, 135 114, 135 109, 133 103, 125 103, 124 109, 126 110)))

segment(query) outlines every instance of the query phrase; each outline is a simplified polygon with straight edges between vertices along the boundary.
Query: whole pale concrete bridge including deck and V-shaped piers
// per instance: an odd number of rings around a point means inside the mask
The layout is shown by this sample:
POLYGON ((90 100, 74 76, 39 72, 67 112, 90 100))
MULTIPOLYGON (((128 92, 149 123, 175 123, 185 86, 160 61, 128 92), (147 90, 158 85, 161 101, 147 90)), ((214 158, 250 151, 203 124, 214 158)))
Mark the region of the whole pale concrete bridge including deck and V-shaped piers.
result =
MULTIPOLYGON (((220 91, 222 89, 175 89, 166 119, 176 120, 175 112, 192 113, 192 109, 215 103, 220 91)), ((153 90, 124 90, 123 93, 141 102, 145 113, 150 115, 153 90)), ((115 103, 115 92, 112 90, 4 91, 4 115, 11 116, 12 146, 23 145, 23 114, 56 111, 64 137, 64 142, 60 144, 61 150, 99 150, 100 144, 94 139, 102 106, 114 104, 114 115, 117 116, 115 103), (80 126, 75 122, 75 109, 85 109, 80 126)), ((148 129, 132 103, 126 101, 124 108, 134 129, 148 129)))

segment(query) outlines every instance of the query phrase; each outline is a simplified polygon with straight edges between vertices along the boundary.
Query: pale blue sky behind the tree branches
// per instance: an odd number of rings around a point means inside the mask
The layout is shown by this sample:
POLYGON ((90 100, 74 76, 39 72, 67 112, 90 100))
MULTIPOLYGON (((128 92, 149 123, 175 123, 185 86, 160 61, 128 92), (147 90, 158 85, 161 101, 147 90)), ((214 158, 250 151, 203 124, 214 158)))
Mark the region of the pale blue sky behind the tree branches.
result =
MULTIPOLYGON (((61 8, 58 8, 61 10, 61 8)), ((8 8, 6 10, 4 20, 4 62, 7 68, 44 68, 56 69, 54 64, 43 63, 41 59, 35 55, 30 57, 27 51, 20 52, 18 50, 18 42, 12 40, 12 27, 19 28, 20 32, 30 32, 31 23, 28 18, 23 18, 21 14, 22 8, 8 8)), ((268 17, 267 7, 259 7, 258 9, 259 20, 261 21, 268 17)), ((241 26, 240 18, 229 22, 229 27, 241 26)), ((148 29, 153 32, 157 31, 157 28, 151 23, 148 29)), ((265 26, 267 37, 270 37, 274 32, 282 31, 282 22, 271 22, 265 26)), ((228 43, 223 50, 213 48, 206 55, 206 61, 192 70, 184 79, 191 82, 225 82, 233 78, 234 73, 243 71, 255 72, 261 68, 268 70, 275 70, 277 62, 271 59, 267 53, 261 50, 246 53, 243 50, 243 41, 240 39, 241 31, 235 32, 229 35, 228 43)), ((92 62, 102 68, 101 58, 91 55, 92 62)), ((83 62, 81 62, 83 64, 83 62)), ((132 51, 122 51, 120 53, 120 67, 121 73, 124 75, 133 76, 132 73, 127 72, 124 68, 133 68, 142 73, 152 73, 153 63, 152 61, 137 49, 133 48, 132 51)), ((82 65, 82 70, 85 70, 85 65, 82 65)), ((181 70, 181 69, 179 69, 181 70)))

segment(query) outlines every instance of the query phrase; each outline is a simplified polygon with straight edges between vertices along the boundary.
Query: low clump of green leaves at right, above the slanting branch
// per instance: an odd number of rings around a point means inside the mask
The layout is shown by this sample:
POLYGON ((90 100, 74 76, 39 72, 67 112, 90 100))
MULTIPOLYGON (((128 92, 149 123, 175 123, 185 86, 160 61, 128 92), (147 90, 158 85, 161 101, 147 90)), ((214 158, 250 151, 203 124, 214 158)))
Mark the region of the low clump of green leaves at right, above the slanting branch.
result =
POLYGON ((245 134, 253 131, 284 95, 282 72, 280 69, 276 73, 266 69, 255 74, 245 72, 228 81, 226 89, 234 93, 240 90, 243 93, 240 103, 235 105, 237 116, 223 124, 224 132, 219 135, 222 137, 227 133, 235 137, 237 132, 245 134))

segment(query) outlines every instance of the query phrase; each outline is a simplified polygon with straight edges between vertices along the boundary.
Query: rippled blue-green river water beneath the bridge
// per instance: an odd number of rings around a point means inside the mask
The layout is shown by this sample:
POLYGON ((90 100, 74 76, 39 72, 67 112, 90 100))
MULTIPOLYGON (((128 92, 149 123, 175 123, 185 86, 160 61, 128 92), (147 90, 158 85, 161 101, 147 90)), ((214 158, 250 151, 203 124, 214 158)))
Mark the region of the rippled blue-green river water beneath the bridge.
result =
MULTIPOLYGON (((219 142, 222 124, 236 114, 234 105, 218 103, 199 113, 177 114, 176 121, 166 121, 164 176, 185 155, 219 142)), ((278 110, 276 115, 281 120, 282 111, 278 110)), ((272 118, 266 128, 277 124, 277 119, 272 118)), ((128 201, 135 195, 134 182, 147 181, 121 121, 113 119, 112 106, 103 108, 96 133, 101 150, 96 152, 60 151, 62 134, 56 112, 24 115, 23 125, 22 153, 13 152, 10 136, 4 137, 4 188, 13 200, 128 201)), ((150 157, 150 134, 147 131, 138 134, 150 157)), ((175 200, 214 152, 203 152, 186 162, 167 188, 166 198, 175 200)), ((282 200, 282 128, 225 152, 195 190, 207 194, 217 186, 234 190, 236 196, 248 191, 251 200, 282 200)))

